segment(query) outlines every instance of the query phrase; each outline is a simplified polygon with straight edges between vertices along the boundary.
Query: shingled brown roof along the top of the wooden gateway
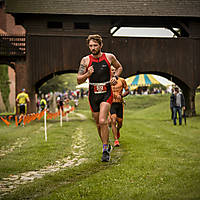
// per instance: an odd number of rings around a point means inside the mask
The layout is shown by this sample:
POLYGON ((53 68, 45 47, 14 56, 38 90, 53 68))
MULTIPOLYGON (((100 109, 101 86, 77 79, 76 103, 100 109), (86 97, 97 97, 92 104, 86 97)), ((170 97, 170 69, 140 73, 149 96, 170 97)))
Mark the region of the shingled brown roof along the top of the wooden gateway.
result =
POLYGON ((200 0, 6 0, 9 13, 200 17, 200 0))

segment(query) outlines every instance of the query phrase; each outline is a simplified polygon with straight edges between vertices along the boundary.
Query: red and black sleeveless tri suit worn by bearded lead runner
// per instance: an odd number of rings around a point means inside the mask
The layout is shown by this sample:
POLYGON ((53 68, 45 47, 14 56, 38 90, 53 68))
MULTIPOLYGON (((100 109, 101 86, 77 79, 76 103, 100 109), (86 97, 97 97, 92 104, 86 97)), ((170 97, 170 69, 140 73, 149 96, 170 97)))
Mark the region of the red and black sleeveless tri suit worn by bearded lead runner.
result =
POLYGON ((92 112, 99 112, 101 102, 112 104, 111 65, 105 53, 102 53, 100 58, 89 55, 89 59, 88 67, 94 68, 94 72, 89 77, 89 103, 92 112))

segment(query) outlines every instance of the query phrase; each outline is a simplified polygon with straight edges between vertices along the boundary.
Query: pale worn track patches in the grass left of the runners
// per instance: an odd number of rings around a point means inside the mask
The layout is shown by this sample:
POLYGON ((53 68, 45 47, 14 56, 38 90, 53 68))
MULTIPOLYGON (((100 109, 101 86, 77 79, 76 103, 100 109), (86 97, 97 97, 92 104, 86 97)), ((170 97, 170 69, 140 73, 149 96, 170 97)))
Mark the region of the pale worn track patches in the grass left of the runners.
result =
MULTIPOLYGON (((84 116, 83 114, 75 113, 75 115, 80 117, 81 120, 87 119, 86 116, 84 116)), ((70 118, 69 120, 73 120, 73 118, 70 118)), ((50 128, 51 126, 52 125, 50 124, 48 128, 50 128)), ((41 127, 40 131, 43 129, 44 127, 41 127)), ((86 159, 81 158, 86 143, 83 136, 83 131, 80 128, 76 129, 76 134, 72 136, 73 143, 71 148, 71 156, 67 156, 62 160, 57 160, 55 164, 46 166, 43 169, 37 171, 28 171, 21 174, 10 175, 7 178, 3 178, 0 181, 0 198, 2 198, 4 195, 12 191, 13 189, 17 188, 21 184, 33 182, 34 179, 42 178, 46 174, 64 170, 66 167, 78 166, 84 161, 86 161, 86 159)), ((27 141, 27 138, 18 138, 17 142, 15 142, 11 147, 3 147, 2 150, 0 150, 0 157, 5 156, 6 154, 14 151, 16 148, 20 148, 27 141)))

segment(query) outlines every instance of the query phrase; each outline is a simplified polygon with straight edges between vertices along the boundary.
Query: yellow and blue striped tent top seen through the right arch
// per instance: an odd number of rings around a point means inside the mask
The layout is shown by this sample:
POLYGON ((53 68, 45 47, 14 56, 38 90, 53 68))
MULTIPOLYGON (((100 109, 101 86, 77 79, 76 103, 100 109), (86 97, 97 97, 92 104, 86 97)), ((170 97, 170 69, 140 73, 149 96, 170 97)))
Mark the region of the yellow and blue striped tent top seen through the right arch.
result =
POLYGON ((150 86, 151 84, 160 84, 151 74, 138 74, 126 79, 126 83, 130 90, 135 90, 138 87, 150 86))

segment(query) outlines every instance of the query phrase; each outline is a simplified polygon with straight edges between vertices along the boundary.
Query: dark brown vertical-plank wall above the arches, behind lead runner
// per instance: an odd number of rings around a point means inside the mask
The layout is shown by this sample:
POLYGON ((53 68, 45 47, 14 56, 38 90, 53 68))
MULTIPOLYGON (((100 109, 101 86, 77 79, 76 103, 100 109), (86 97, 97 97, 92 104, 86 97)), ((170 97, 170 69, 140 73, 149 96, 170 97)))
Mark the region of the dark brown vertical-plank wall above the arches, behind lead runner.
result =
MULTIPOLYGON (((77 72, 80 59, 89 53, 85 36, 28 38, 34 84, 52 73, 77 72)), ((103 51, 116 55, 123 77, 150 72, 176 77, 190 88, 200 84, 199 39, 106 37, 103 51)))

